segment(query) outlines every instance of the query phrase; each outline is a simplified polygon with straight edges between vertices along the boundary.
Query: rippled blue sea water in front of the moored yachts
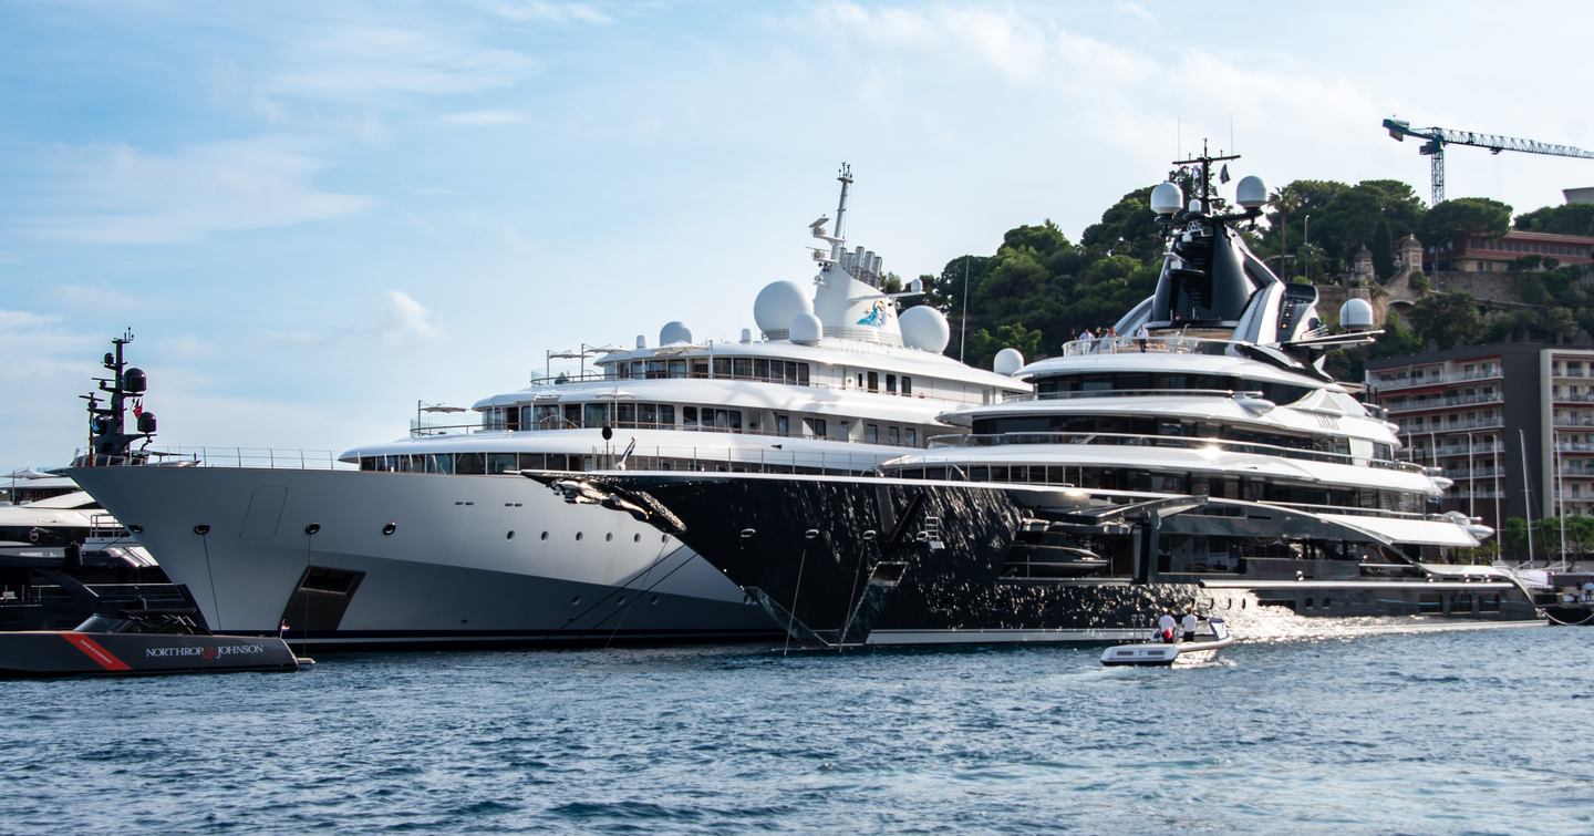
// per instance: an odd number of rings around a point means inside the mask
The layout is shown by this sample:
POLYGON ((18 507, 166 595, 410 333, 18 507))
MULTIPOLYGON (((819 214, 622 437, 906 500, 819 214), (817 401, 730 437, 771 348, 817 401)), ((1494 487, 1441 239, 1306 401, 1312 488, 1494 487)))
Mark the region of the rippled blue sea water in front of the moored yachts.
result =
POLYGON ((1594 831, 1594 629, 0 683, 0 831, 1594 831))

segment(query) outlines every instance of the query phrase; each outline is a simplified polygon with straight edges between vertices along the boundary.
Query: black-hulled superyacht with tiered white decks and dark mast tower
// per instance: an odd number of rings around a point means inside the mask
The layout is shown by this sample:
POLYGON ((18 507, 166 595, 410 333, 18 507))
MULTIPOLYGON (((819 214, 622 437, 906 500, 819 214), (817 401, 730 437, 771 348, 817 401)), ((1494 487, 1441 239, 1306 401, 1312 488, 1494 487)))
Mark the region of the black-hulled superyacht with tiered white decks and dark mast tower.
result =
POLYGON ((1167 609, 1251 635, 1535 619, 1506 573, 1439 560, 1492 531, 1431 514, 1449 480, 1400 461, 1393 424, 1321 370, 1326 349, 1374 337, 1371 306, 1325 327, 1317 289, 1280 281, 1240 235, 1261 180, 1237 183, 1240 212, 1213 211, 1223 160, 1183 161, 1203 183, 1189 204, 1152 191, 1167 249, 1124 337, 1068 343, 1019 372, 1033 394, 942 416, 966 436, 881 477, 582 483, 824 646, 1119 641, 1167 609))

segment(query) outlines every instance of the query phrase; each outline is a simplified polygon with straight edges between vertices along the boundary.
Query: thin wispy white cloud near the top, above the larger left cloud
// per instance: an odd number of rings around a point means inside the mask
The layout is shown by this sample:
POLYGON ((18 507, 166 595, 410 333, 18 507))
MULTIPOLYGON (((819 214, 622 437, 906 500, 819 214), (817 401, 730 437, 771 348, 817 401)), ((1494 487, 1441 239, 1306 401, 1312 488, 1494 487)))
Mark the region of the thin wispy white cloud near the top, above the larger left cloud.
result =
POLYGON ((266 81, 266 91, 357 101, 502 88, 537 69, 520 53, 394 27, 347 27, 308 38, 289 49, 289 64, 266 81))

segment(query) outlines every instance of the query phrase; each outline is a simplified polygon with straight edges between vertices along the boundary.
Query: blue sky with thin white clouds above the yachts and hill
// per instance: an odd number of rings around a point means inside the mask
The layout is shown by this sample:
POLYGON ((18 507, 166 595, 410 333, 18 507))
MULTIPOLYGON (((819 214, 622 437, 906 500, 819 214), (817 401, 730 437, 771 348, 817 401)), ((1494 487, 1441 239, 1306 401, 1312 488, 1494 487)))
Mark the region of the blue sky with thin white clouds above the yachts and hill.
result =
MULTIPOLYGON (((166 447, 341 452, 548 351, 752 327, 851 244, 904 276, 1073 239, 1200 147, 1396 179, 1387 116, 1594 148, 1594 5, 0 3, 0 472, 65 463, 132 329, 166 447), (1581 81, 1578 81, 1581 83, 1581 81)), ((1594 161, 1451 148, 1517 212, 1594 161)), ((558 370, 558 365, 555 365, 558 370)))

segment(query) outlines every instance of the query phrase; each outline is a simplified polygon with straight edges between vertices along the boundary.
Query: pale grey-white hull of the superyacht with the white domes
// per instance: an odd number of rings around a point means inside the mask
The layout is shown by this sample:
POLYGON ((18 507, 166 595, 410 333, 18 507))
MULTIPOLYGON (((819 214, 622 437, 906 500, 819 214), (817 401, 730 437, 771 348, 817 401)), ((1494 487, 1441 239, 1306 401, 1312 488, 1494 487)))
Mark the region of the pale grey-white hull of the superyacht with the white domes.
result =
POLYGON ((679 541, 515 475, 86 467, 215 632, 320 648, 717 641, 775 625, 679 541))

